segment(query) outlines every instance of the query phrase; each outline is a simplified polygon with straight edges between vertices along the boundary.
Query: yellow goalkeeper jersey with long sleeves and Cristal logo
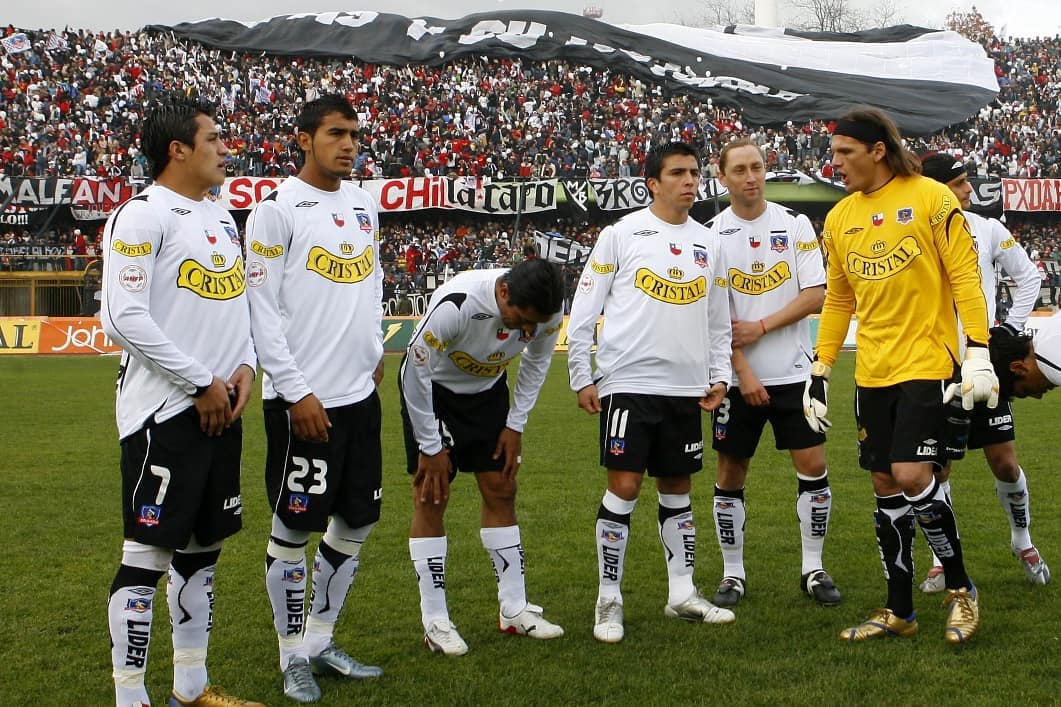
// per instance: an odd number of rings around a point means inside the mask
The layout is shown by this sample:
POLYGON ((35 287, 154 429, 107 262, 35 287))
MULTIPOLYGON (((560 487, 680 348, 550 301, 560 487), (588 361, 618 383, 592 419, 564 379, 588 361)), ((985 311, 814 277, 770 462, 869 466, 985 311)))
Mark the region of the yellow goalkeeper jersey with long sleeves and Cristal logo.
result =
POLYGON ((835 363, 854 314, 858 385, 951 377, 960 361, 956 312, 969 339, 987 344, 976 244, 944 185, 895 176, 870 194, 855 192, 825 217, 822 243, 818 358, 835 363))

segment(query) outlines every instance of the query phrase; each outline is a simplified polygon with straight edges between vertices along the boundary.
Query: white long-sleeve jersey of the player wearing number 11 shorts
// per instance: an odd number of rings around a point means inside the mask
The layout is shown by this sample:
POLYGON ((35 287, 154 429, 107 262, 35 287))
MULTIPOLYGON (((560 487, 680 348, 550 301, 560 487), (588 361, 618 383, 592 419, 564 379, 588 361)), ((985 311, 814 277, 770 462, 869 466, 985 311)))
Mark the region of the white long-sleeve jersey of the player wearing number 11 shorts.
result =
POLYGON ((729 303, 718 240, 689 219, 674 225, 649 208, 601 231, 568 322, 571 387, 599 395, 701 397, 730 384, 729 303), (597 317, 596 370, 590 348, 597 317))

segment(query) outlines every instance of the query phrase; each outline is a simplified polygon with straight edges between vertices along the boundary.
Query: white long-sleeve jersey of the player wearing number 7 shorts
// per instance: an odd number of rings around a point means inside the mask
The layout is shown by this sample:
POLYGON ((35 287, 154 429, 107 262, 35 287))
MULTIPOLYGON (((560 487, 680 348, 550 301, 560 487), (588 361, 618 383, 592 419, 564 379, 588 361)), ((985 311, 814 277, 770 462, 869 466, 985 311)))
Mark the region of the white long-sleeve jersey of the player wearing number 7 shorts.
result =
POLYGON ((236 222, 209 201, 153 185, 104 228, 103 330, 124 349, 118 434, 194 404, 214 376, 255 367, 236 222))

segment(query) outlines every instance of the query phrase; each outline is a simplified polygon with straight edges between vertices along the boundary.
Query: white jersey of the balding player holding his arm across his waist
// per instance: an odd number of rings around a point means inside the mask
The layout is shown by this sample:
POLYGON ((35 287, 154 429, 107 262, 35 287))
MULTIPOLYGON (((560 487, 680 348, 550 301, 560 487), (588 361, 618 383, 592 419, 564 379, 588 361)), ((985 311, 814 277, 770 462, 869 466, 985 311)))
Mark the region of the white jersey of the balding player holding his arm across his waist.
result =
MULTIPOLYGON (((732 318, 756 322, 778 311, 801 290, 825 284, 825 265, 811 221, 766 203, 754 221, 732 207, 708 222, 721 244, 732 318)), ((742 347, 764 385, 799 383, 811 375, 811 324, 806 318, 772 329, 742 347)))

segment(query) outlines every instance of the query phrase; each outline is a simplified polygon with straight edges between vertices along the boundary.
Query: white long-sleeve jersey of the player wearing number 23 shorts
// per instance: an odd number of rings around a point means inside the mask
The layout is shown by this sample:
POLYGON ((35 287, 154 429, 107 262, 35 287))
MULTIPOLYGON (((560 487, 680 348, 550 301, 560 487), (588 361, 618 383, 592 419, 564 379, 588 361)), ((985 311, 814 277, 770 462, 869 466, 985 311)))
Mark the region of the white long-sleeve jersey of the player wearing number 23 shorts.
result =
POLYGON ((247 297, 262 398, 364 400, 383 356, 379 213, 364 189, 284 179, 247 220, 247 297))

